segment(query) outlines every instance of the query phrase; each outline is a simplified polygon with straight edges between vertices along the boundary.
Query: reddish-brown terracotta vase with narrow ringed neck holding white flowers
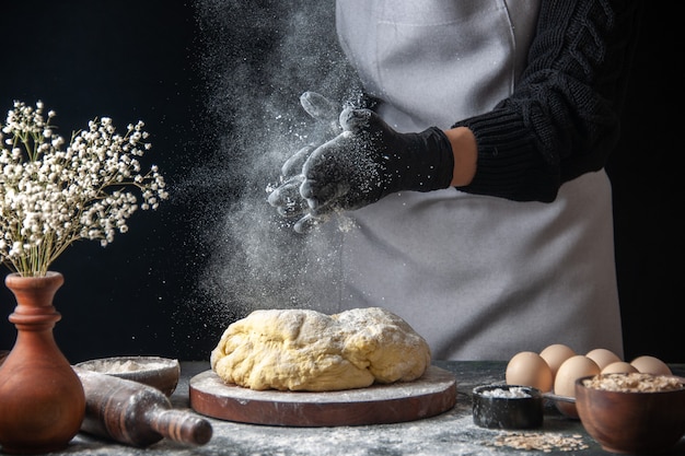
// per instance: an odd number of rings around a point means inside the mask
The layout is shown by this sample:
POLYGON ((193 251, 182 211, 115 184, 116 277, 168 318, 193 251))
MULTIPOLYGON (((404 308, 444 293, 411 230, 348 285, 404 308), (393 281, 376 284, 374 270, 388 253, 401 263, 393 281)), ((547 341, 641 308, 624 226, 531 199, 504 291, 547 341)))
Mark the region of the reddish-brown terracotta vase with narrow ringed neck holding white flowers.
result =
POLYGON ((3 453, 42 454, 63 449, 85 414, 83 386, 57 347, 53 328, 61 315, 53 297, 65 279, 7 276, 16 307, 9 319, 18 330, 0 365, 0 447, 3 453))

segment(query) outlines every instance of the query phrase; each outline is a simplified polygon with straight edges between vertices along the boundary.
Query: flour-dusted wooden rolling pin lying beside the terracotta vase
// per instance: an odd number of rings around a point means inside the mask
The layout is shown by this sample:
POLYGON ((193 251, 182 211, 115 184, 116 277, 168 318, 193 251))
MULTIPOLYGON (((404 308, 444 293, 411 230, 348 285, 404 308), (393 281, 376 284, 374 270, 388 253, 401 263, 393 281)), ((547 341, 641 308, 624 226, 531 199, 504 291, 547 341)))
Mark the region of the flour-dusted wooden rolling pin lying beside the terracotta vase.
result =
POLYGON ((195 413, 172 409, 162 391, 133 381, 74 367, 85 393, 81 431, 133 446, 148 446, 163 437, 204 445, 211 423, 195 413))

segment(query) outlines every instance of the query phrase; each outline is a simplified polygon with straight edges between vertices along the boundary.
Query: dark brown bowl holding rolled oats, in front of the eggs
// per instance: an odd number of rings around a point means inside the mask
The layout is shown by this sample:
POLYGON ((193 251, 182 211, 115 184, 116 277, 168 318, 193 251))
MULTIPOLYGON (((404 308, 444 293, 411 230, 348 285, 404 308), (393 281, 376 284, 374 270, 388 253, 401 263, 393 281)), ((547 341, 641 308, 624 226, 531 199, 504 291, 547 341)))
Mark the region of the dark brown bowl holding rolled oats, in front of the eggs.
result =
MULTIPOLYGON (((609 374, 626 376, 630 374, 609 374)), ((677 389, 615 391, 590 387, 587 376, 576 381, 576 407, 585 431, 611 453, 659 454, 685 434, 685 378, 677 389)))

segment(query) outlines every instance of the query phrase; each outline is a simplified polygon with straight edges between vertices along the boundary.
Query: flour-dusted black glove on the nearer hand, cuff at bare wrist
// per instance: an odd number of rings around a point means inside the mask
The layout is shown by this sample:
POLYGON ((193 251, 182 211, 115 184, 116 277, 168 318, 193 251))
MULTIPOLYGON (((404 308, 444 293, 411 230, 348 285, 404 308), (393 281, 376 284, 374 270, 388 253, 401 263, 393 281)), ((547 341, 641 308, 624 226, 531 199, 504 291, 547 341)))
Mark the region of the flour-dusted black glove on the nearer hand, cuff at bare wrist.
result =
POLYGON ((444 132, 399 133, 369 109, 345 108, 342 132, 307 154, 300 194, 310 218, 359 209, 403 190, 430 191, 452 182, 454 156, 444 132))

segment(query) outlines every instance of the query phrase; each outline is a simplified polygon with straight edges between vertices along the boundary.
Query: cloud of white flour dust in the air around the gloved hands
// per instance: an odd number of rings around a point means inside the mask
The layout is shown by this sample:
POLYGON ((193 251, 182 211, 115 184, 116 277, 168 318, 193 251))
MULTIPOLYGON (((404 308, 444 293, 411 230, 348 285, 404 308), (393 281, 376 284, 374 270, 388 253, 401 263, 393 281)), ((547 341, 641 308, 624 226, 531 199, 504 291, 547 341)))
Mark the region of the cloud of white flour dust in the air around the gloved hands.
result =
MULTIPOLYGON (((278 183, 281 165, 298 150, 330 139, 330 126, 300 106, 303 92, 340 108, 359 97, 337 43, 335 1, 199 0, 196 9, 205 47, 198 71, 209 95, 205 128, 216 156, 187 183, 207 202, 197 221, 207 252, 198 283, 205 306, 193 312, 207 314, 217 337, 257 308, 333 313, 339 235, 294 233, 293 222, 268 204, 265 188, 278 183)), ((340 232, 353 227, 340 221, 340 232)))

